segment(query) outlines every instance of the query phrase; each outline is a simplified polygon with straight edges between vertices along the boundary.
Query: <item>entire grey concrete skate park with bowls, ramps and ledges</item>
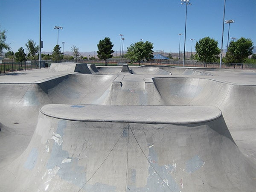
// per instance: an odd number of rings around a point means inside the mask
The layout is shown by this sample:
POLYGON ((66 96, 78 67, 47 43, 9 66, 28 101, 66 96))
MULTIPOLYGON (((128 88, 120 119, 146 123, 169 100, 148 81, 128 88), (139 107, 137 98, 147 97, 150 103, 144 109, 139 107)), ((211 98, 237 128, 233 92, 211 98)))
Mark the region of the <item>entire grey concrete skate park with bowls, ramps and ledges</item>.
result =
POLYGON ((0 76, 0 191, 255 191, 256 71, 57 63, 0 76))

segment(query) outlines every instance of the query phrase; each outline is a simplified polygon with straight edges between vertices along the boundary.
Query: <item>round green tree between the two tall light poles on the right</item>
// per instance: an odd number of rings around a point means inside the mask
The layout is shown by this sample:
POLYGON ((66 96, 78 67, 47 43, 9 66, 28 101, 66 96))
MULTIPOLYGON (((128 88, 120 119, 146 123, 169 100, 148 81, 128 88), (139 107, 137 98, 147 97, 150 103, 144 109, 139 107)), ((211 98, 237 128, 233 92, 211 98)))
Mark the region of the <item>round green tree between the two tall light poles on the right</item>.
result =
POLYGON ((217 61, 221 49, 218 48, 218 41, 205 37, 195 43, 195 51, 199 56, 199 61, 204 61, 208 64, 217 61))

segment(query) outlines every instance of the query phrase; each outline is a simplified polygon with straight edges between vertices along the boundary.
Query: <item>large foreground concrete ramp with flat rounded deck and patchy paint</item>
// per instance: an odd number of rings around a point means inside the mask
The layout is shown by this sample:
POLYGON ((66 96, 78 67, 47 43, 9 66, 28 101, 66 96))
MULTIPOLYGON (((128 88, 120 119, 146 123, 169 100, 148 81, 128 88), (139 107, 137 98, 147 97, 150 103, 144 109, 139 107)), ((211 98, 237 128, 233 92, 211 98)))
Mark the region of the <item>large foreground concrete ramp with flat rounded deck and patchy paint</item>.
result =
POLYGON ((215 107, 45 105, 1 191, 253 191, 254 173, 215 107))

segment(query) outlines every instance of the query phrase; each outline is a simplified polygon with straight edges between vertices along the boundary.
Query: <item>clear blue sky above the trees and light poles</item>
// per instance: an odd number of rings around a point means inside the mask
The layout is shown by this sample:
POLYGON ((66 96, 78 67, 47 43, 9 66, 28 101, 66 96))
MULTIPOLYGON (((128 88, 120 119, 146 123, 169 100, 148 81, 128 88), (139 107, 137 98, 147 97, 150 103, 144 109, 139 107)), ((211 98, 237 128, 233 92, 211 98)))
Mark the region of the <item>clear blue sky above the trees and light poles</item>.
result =
MULTIPOLYGON (((195 50, 195 42, 209 36, 221 47, 224 0, 190 0, 187 9, 186 51, 195 50)), ((25 48, 28 39, 39 44, 40 0, 0 0, 0 29, 6 30, 6 43, 13 52, 25 48)), ((42 52, 51 52, 57 44, 64 51, 75 45, 80 52, 97 51, 99 40, 111 38, 113 49, 124 50, 131 44, 150 41, 154 51, 184 50, 186 5, 180 0, 42 0, 42 52)), ((230 37, 250 38, 256 46, 256 0, 226 0, 225 20, 230 24, 230 37)), ((228 24, 224 25, 223 48, 227 46, 228 24)), ((62 49, 61 49, 62 51, 62 49)))

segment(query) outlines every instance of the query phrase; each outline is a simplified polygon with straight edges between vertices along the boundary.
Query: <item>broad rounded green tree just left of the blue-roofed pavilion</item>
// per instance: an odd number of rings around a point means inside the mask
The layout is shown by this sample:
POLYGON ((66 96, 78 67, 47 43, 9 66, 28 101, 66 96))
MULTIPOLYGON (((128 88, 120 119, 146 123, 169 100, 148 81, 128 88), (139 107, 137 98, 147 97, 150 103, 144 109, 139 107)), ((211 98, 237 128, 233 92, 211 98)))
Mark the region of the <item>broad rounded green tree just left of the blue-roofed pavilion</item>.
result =
POLYGON ((130 47, 127 47, 126 57, 131 60, 132 63, 139 63, 141 61, 149 61, 154 58, 153 55, 153 44, 149 41, 145 43, 143 41, 139 41, 137 43, 131 44, 130 47))

